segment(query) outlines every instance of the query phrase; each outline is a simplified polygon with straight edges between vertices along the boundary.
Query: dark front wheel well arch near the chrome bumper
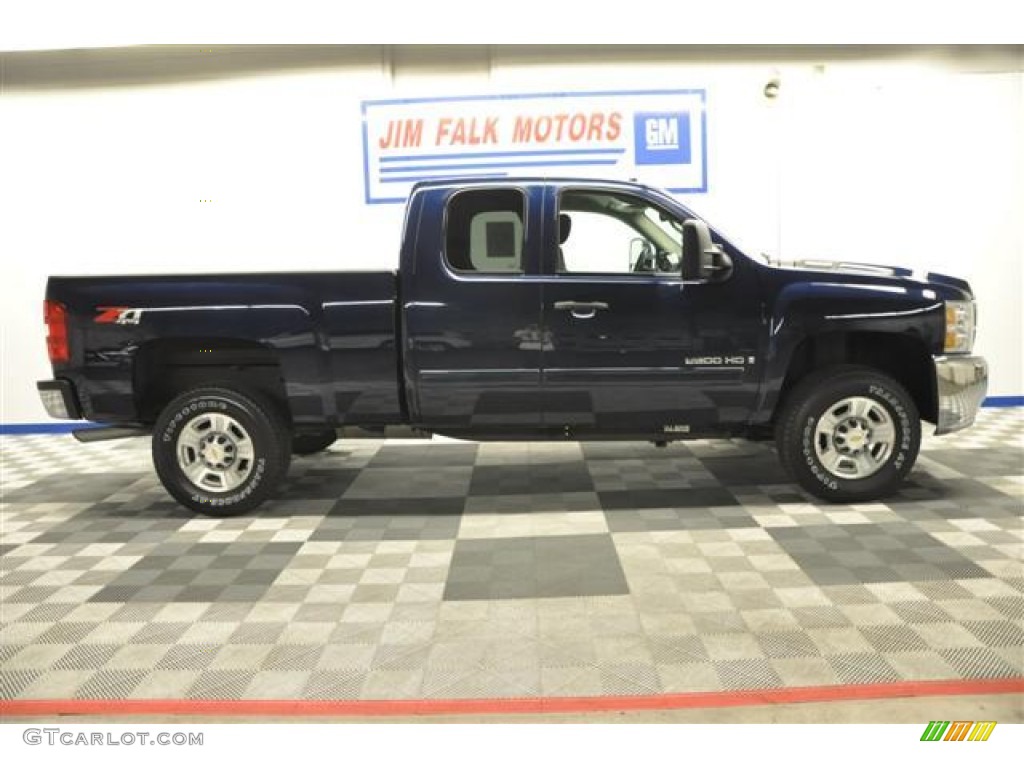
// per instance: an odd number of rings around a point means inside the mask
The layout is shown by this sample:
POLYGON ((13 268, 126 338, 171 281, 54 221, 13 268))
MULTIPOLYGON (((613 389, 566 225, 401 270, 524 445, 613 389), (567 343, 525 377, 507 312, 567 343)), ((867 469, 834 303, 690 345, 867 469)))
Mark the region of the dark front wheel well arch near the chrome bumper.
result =
POLYGON ((873 368, 892 377, 913 398, 921 418, 935 422, 938 393, 932 355, 925 342, 910 334, 869 331, 822 333, 801 341, 790 358, 773 421, 781 413, 786 396, 804 378, 844 364, 873 368))

